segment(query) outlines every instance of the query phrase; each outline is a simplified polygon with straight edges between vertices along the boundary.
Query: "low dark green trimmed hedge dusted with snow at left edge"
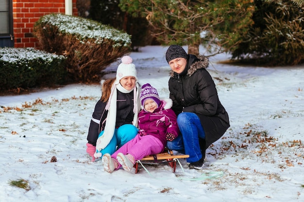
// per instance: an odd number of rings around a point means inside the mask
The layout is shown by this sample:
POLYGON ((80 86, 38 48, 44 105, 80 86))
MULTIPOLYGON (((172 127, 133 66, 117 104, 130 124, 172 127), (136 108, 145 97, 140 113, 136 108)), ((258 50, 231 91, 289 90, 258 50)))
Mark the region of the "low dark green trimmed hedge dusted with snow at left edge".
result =
POLYGON ((62 84, 66 58, 34 48, 0 48, 0 90, 62 84))

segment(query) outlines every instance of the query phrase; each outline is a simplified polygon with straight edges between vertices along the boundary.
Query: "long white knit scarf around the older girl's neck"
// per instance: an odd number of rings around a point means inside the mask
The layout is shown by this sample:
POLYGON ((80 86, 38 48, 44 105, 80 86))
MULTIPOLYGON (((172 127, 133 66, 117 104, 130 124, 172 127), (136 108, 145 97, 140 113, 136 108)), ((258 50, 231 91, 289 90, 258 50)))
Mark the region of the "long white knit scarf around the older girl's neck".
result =
POLYGON ((99 137, 97 139, 96 142, 96 153, 94 154, 94 156, 97 157, 101 157, 101 150, 104 149, 109 142, 112 140, 113 135, 114 135, 114 131, 115 131, 115 123, 116 123, 116 109, 117 109, 117 90, 120 91, 121 93, 131 93, 132 91, 134 91, 134 107, 133 107, 133 113, 134 113, 134 118, 133 118, 133 125, 135 125, 135 127, 137 127, 137 123, 138 123, 138 112, 140 110, 140 97, 139 97, 139 93, 140 93, 140 87, 138 82, 136 81, 135 86, 133 89, 131 90, 126 90, 125 88, 123 88, 121 86, 121 84, 119 83, 119 81, 115 81, 112 89, 111 89, 111 94, 109 97, 109 100, 105 106, 105 109, 108 110, 108 114, 107 114, 107 118, 106 118, 106 123, 105 123, 105 127, 104 127, 104 132, 102 134, 101 137, 99 137))

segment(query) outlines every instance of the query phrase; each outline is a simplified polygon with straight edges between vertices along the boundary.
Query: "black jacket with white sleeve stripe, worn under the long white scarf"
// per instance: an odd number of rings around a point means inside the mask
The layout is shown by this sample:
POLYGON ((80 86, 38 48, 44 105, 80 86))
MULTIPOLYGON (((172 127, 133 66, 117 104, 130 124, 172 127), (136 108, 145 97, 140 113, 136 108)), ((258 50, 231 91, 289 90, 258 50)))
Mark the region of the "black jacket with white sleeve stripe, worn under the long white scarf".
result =
MULTIPOLYGON (((134 113, 134 98, 133 91, 131 93, 121 93, 117 91, 117 113, 116 113, 116 125, 118 128, 123 124, 132 124, 134 113)), ((108 110, 105 110, 106 102, 99 100, 96 103, 92 120, 87 135, 88 143, 96 146, 99 133, 104 130, 108 110)))

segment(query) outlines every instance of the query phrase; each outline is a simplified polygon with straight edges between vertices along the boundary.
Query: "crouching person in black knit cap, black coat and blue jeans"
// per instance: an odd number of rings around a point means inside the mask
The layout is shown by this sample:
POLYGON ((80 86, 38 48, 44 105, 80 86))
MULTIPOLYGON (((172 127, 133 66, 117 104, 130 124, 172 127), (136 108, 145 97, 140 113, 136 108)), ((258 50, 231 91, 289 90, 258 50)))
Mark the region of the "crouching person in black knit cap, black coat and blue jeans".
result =
POLYGON ((182 135, 167 147, 189 155, 189 169, 201 170, 206 148, 219 140, 230 127, 228 113, 221 105, 208 71, 208 58, 187 54, 183 47, 171 45, 166 52, 171 67, 169 97, 182 135))

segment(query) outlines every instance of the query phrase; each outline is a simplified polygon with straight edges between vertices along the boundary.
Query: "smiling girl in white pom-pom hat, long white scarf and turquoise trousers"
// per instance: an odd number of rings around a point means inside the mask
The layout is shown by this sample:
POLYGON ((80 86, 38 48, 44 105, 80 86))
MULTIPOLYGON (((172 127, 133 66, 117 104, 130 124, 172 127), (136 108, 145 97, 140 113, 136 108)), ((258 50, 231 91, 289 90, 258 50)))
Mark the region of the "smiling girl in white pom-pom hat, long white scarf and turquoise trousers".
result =
POLYGON ((140 86, 130 56, 121 58, 116 78, 103 82, 101 99, 96 103, 87 135, 86 152, 92 161, 113 154, 117 147, 132 140, 137 132, 140 86))

